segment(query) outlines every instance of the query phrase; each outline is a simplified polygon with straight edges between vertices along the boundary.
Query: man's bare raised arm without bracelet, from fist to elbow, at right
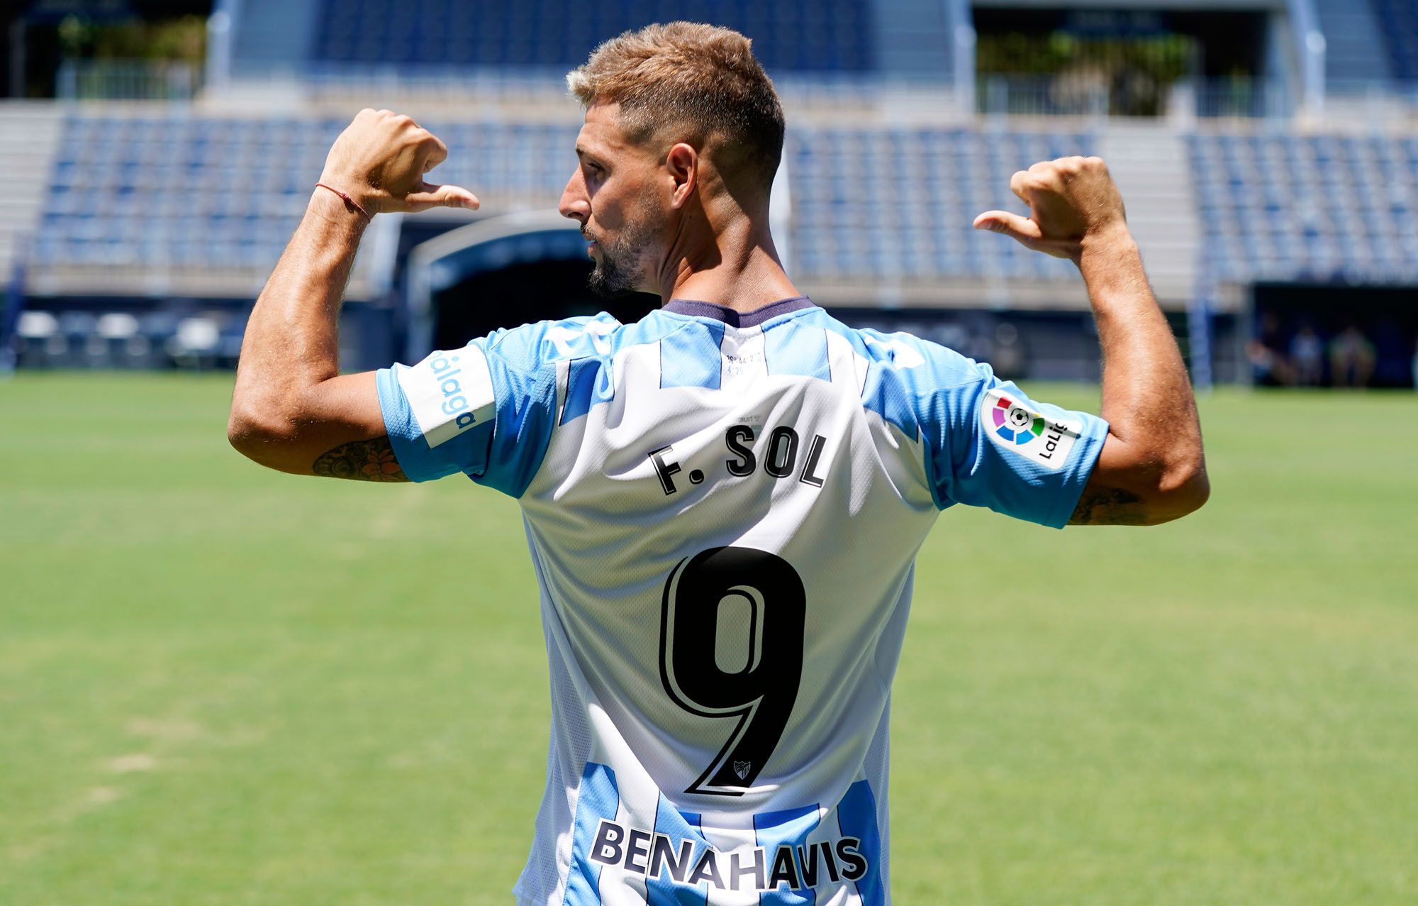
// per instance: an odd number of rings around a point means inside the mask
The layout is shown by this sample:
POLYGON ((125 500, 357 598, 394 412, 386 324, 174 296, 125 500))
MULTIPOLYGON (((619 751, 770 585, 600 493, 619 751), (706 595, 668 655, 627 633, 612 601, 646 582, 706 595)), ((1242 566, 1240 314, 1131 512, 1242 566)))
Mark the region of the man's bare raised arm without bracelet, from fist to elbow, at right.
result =
POLYGON ((1078 264, 1103 348, 1109 432, 1069 524, 1153 525, 1197 510, 1210 494, 1197 402, 1107 166, 1098 158, 1035 163, 1010 189, 1029 216, 990 210, 976 229, 1078 264))

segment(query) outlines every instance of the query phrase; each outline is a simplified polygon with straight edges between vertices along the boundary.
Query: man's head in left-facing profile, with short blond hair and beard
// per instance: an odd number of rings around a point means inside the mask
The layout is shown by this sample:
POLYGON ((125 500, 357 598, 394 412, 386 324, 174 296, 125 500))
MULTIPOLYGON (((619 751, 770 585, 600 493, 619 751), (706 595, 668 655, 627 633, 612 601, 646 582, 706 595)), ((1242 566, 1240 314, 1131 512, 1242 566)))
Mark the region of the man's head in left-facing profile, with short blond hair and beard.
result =
POLYGON ((560 210, 593 243, 593 288, 658 290, 676 243, 713 247, 735 217, 766 219, 783 107, 749 38, 647 26, 597 47, 566 81, 586 125, 560 210))

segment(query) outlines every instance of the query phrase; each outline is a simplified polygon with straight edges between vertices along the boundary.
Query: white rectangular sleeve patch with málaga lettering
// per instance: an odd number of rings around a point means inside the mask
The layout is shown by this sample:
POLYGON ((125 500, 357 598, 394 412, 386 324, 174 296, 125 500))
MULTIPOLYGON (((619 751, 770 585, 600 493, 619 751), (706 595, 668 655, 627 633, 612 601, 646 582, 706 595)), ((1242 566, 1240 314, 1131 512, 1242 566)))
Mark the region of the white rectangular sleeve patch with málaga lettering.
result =
POLYGON ((482 425, 496 412, 488 358, 478 346, 432 352, 397 373, 428 449, 482 425))

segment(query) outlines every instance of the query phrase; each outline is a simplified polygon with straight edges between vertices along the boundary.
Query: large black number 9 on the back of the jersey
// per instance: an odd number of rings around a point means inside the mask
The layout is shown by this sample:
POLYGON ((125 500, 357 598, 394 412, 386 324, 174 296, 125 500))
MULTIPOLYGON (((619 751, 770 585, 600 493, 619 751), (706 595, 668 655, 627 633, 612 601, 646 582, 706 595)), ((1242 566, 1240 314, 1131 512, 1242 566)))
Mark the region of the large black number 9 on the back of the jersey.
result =
MULTIPOLYGON (((743 795, 783 738, 803 679, 803 579, 781 557, 746 547, 716 547, 682 560, 665 582, 659 623, 659 679, 692 714, 736 717, 733 733, 685 792, 743 795), (725 626, 747 613, 747 625, 725 626), (730 604, 733 606, 733 604, 730 604), (747 633, 742 669, 729 672, 716 652, 720 628, 747 633)), ((742 636, 740 636, 742 638, 742 636)), ((735 665, 736 666, 736 665, 735 665)))

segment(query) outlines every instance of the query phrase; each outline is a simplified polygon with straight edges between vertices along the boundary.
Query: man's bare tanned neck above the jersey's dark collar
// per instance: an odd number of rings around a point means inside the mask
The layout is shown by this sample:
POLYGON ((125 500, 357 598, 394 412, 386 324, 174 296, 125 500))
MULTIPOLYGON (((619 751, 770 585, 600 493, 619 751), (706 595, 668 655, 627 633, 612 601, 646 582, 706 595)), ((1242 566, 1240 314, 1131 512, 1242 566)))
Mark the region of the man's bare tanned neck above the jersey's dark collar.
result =
POLYGON ((713 302, 747 312, 801 295, 793 285, 767 229, 722 230, 698 247, 676 243, 674 267, 661 281, 659 304, 672 298, 713 302))

